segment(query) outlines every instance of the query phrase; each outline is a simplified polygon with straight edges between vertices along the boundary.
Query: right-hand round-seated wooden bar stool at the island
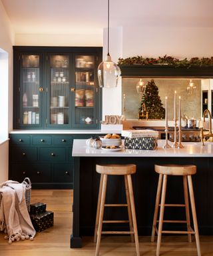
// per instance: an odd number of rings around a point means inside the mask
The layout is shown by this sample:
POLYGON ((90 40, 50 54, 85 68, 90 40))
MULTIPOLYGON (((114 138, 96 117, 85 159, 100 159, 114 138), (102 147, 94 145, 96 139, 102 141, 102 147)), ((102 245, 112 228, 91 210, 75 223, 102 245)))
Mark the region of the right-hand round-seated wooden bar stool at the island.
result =
POLYGON ((161 242, 161 235, 163 233, 166 234, 188 234, 188 241, 191 242, 192 238, 191 235, 195 235, 196 239, 196 247, 198 251, 198 256, 200 256, 200 240, 199 240, 199 233, 198 233, 198 223, 196 217, 196 209, 194 203, 194 191, 192 186, 192 176, 196 173, 196 166, 195 165, 154 165, 154 171, 159 173, 158 179, 158 189, 156 194, 156 202, 154 208, 154 219, 152 225, 152 239, 154 241, 155 232, 158 235, 157 240, 157 248, 156 248, 156 256, 160 255, 160 242, 161 242), (166 197, 166 183, 167 183, 167 175, 181 175, 183 176, 183 183, 184 183, 184 201, 185 203, 182 205, 176 204, 165 204, 165 197, 166 197), (188 181, 188 184, 187 184, 188 181), (189 203, 188 203, 188 190, 190 195, 190 203, 192 208, 192 218, 194 224, 194 230, 190 226, 190 212, 189 212, 189 203), (161 200, 160 200, 161 194, 161 200), (160 202, 160 205, 159 205, 160 202), (157 217, 158 217, 158 207, 160 206, 160 217, 158 221, 158 228, 156 227, 157 217), (186 221, 166 221, 163 219, 164 217, 164 207, 185 207, 186 208, 186 221), (186 223, 187 231, 164 231, 162 230, 163 223, 186 223))

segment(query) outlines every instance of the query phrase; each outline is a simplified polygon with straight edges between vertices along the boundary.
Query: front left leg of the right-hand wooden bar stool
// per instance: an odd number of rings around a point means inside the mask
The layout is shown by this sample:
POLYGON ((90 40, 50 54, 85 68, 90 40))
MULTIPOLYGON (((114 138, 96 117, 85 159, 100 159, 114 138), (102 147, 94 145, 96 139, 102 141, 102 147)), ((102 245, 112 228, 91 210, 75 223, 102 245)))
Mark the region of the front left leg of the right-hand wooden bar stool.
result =
POLYGON ((159 217, 159 225, 158 225, 158 240, 157 240, 156 256, 160 255, 162 222, 163 222, 163 219, 164 219, 164 204, 165 204, 165 198, 166 198, 166 183, 167 183, 167 175, 163 175, 162 194, 161 194, 161 200, 160 200, 160 217, 159 217))

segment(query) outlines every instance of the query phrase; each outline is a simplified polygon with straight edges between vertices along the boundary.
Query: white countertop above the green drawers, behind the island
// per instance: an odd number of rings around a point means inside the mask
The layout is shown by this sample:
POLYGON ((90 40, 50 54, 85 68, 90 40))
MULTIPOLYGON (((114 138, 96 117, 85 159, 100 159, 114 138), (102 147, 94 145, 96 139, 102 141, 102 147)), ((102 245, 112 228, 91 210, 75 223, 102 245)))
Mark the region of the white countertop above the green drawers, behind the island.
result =
POLYGON ((11 134, 107 134, 107 133, 121 133, 120 130, 13 130, 11 134))

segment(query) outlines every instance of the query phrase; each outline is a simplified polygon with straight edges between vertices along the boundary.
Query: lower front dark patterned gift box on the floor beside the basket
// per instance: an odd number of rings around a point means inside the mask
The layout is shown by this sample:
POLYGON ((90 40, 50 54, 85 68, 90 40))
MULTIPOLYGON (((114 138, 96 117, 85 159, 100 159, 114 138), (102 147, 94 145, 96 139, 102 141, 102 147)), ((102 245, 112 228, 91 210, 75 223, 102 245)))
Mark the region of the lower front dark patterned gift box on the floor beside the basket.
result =
POLYGON ((48 227, 53 226, 53 211, 45 211, 45 213, 31 214, 31 221, 35 231, 41 232, 48 227))

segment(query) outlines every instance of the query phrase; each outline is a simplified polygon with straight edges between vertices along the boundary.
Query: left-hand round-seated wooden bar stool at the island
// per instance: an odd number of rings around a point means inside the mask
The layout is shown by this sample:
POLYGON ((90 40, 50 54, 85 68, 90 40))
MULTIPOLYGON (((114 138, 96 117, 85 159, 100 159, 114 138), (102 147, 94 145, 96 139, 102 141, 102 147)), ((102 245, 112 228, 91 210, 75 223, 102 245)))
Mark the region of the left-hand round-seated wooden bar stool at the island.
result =
POLYGON ((139 256, 138 243, 138 229, 136 225, 136 215, 134 208, 134 195, 132 189, 131 174, 136 173, 136 165, 96 165, 97 173, 101 174, 99 185, 99 198, 97 205, 97 215, 95 222, 94 242, 97 242, 95 256, 99 255, 99 248, 101 243, 101 234, 130 234, 131 241, 135 241, 136 255, 139 256), (124 183, 126 190, 127 204, 105 204, 105 197, 107 192, 107 177, 108 175, 124 175, 124 183), (127 207, 128 221, 103 221, 105 207, 127 207), (130 231, 102 231, 103 223, 129 223, 130 231))

